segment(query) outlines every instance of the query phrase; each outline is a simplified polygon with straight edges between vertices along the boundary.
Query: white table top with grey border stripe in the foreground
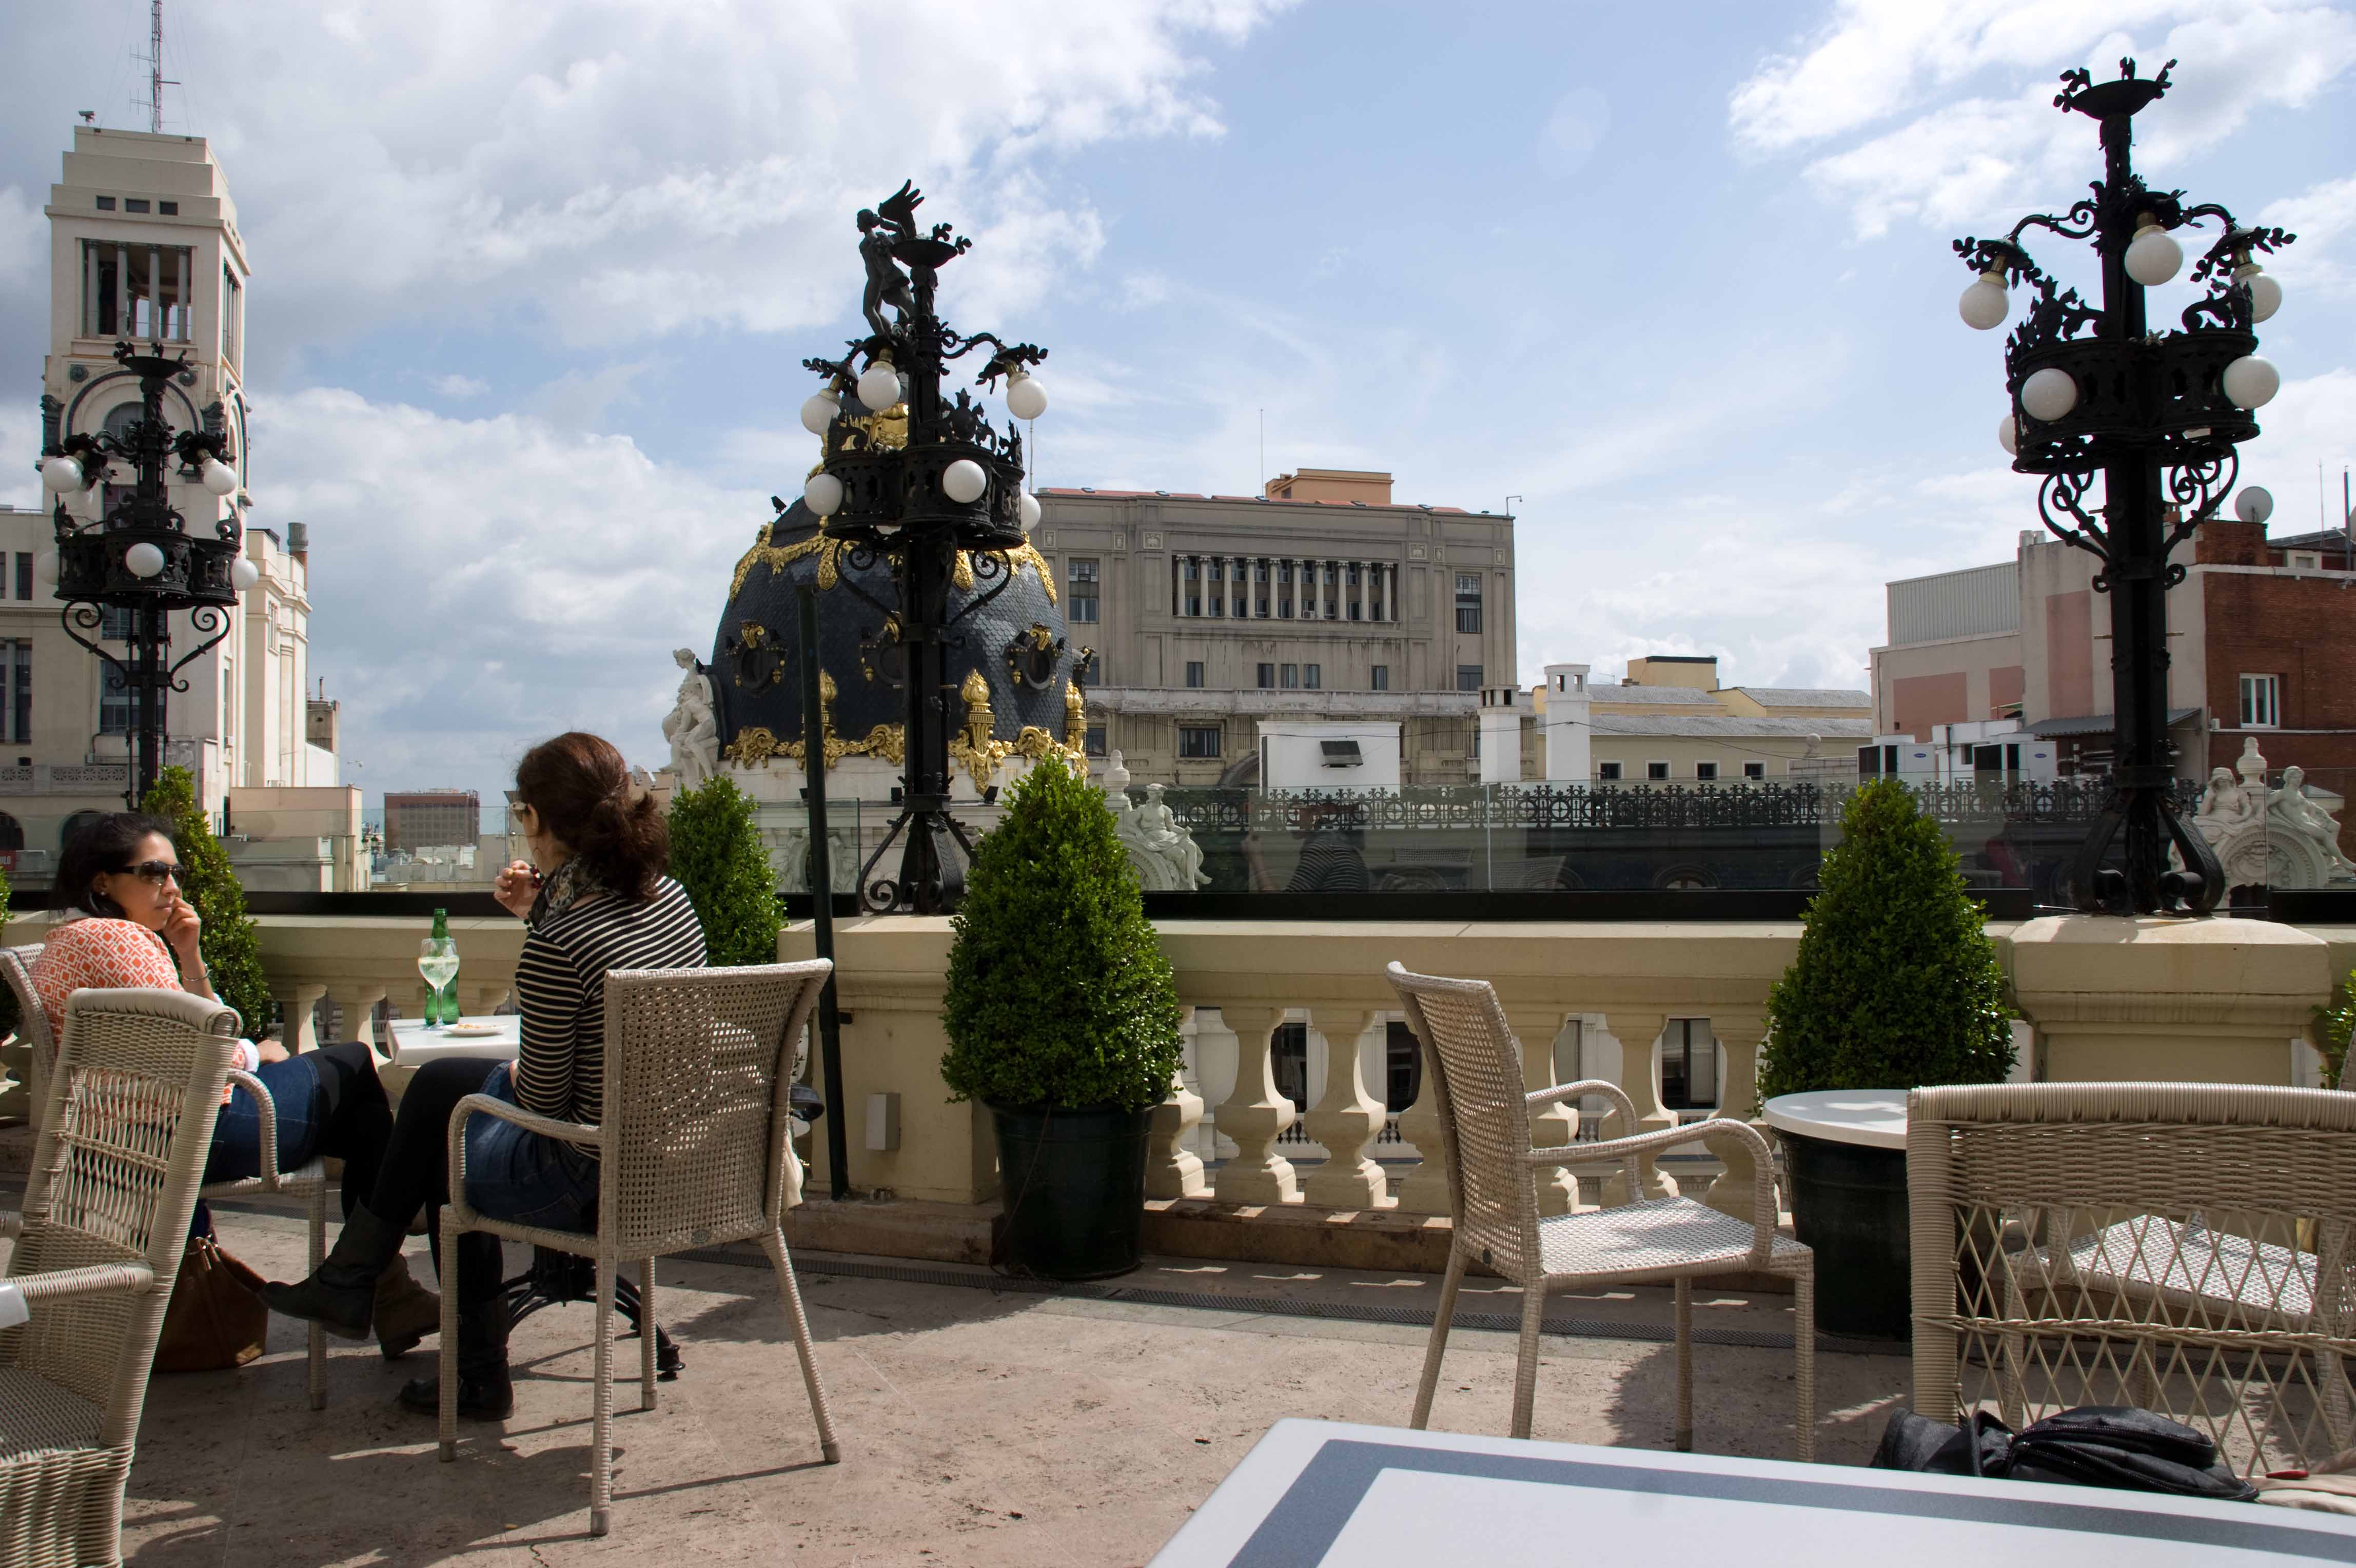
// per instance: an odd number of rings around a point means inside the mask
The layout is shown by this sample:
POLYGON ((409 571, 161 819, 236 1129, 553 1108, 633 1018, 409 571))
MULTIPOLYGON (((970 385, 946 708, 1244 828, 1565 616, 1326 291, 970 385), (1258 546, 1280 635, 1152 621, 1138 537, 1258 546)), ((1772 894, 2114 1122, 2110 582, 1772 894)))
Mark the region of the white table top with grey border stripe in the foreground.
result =
POLYGON ((1842 1464, 1284 1420, 1152 1568, 2285 1568, 2356 1516, 1842 1464))

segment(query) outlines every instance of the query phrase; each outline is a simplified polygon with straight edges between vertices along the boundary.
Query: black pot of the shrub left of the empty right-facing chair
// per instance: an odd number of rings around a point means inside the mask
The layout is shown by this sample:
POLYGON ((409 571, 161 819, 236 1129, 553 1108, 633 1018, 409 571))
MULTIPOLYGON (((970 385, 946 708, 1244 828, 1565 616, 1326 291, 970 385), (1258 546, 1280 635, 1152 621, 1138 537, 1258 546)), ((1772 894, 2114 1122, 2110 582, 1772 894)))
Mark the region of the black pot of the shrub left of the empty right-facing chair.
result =
POLYGON ((1152 1107, 990 1107, 999 1125, 1001 1260, 1039 1278, 1110 1278, 1145 1260, 1152 1107))

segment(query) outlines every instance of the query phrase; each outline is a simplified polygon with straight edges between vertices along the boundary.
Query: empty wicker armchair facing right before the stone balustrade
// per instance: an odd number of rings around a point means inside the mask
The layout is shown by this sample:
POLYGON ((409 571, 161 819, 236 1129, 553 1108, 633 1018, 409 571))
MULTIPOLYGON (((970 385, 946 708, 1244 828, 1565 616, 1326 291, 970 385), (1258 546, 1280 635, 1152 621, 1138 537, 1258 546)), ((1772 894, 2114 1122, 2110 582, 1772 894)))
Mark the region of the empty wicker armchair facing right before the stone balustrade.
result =
MULTIPOLYGON (((1798 1241, 1776 1231, 1774 1161, 1767 1140, 1739 1121, 1701 1121, 1600 1144, 1529 1147, 1529 1111, 1579 1095, 1602 1095, 1635 1125, 1635 1104, 1600 1078, 1522 1092, 1520 1045, 1505 1024, 1496 991, 1482 979, 1411 975, 1388 970, 1407 1008, 1407 1022, 1423 1041, 1425 1083, 1440 1111, 1440 1151, 1449 1175, 1454 1241, 1449 1271, 1440 1285, 1440 1309, 1423 1351, 1411 1427, 1432 1415, 1440 1358, 1456 1316, 1456 1290, 1465 1264, 1480 1260, 1522 1288, 1522 1349, 1513 1375, 1513 1436, 1529 1436, 1538 1384, 1538 1328, 1548 1290, 1588 1290, 1675 1281, 1677 1295, 1677 1448, 1694 1446, 1694 1278, 1710 1274, 1767 1271, 1795 1285, 1793 1356, 1798 1363, 1800 1460, 1816 1457, 1816 1260, 1798 1241), (1755 1175, 1751 1220, 1734 1220, 1692 1198, 1640 1198, 1581 1215, 1538 1215, 1536 1175, 1543 1165, 1626 1165, 1637 1187, 1640 1161, 1692 1144, 1741 1144, 1755 1175)), ((1644 1050, 1628 1043, 1628 1050, 1644 1050)))

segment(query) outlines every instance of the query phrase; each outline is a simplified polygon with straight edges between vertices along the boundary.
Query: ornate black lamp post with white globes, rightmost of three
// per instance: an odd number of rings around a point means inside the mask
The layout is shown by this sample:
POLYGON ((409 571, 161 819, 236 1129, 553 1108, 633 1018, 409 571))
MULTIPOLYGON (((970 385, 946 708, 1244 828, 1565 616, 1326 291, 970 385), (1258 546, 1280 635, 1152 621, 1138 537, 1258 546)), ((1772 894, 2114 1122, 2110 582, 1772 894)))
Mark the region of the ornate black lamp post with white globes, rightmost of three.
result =
MULTIPOLYGON (((2224 895, 2208 841, 2177 817, 2168 746, 2168 589, 2184 567, 2168 560, 2215 516, 2238 476, 2236 447, 2257 436, 2252 410, 2281 379, 2257 356, 2252 327, 2283 299, 2257 261, 2285 245, 2281 228, 2243 228, 2215 202, 2191 207, 2182 191, 2153 191, 2132 167, 2137 111, 2168 92, 2168 71, 2144 80, 2120 61, 2116 82, 2064 71, 2054 106, 2102 127, 2104 177, 2069 214, 2031 214, 2003 240, 1963 238, 1955 252, 1979 273, 1963 292, 1963 320, 2003 325, 2007 285, 2033 287, 2026 320, 2005 339, 2012 412, 1998 440, 2017 473, 2040 476, 2038 516, 2066 544, 2102 560, 2097 593, 2111 593, 2111 692, 2116 751, 2111 800, 2071 869, 2087 913, 2208 913, 2224 895), (2172 228, 2215 219, 2222 235, 2193 266, 2205 299, 2179 332, 2146 325, 2144 290, 2184 264, 2172 228), (2102 259, 2102 308, 2038 271, 2021 233, 2050 228, 2092 240, 2102 259), (2090 504, 2094 480, 2102 501, 2090 504), (2125 836, 2125 871, 2104 852, 2125 836), (2179 869, 2170 869, 2170 845, 2179 869)), ((2243 513, 2262 492, 2243 492, 2243 513)))

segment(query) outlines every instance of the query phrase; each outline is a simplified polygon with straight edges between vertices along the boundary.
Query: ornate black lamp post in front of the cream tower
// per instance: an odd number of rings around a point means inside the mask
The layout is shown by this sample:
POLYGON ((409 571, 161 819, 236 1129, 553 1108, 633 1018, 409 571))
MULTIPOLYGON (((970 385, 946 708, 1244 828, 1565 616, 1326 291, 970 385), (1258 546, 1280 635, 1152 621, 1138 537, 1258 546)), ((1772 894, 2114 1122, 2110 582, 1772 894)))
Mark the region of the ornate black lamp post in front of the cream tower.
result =
POLYGON ((137 756, 127 800, 137 808, 163 772, 165 704, 172 692, 188 690, 179 671, 229 636, 229 607, 259 572, 243 558, 236 513, 207 534, 191 532, 172 506, 167 464, 174 459, 179 473, 210 494, 238 487, 226 431, 174 433, 165 424, 163 388, 188 365, 188 356, 167 358, 163 344, 139 353, 125 341, 115 344, 115 363, 139 377, 139 419, 101 436, 68 436, 42 452, 40 478, 57 494, 59 619, 66 636, 99 655, 132 697, 137 756), (97 490, 104 499, 106 473, 118 461, 132 466, 132 487, 120 499, 106 499, 97 520, 68 511, 66 497, 75 492, 97 490), (104 643, 106 610, 130 617, 125 655, 104 643), (188 612, 200 638, 179 659, 172 657, 177 610, 188 612))

